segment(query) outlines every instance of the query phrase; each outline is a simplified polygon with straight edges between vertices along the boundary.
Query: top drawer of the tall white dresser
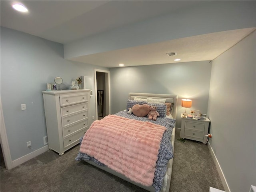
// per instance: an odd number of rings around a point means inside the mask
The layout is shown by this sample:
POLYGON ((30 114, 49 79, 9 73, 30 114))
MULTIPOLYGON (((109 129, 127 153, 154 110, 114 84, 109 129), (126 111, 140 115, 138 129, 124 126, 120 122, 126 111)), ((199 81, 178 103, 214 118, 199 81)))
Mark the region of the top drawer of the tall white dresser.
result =
POLYGON ((60 106, 68 106, 88 101, 89 94, 64 94, 60 96, 60 106))

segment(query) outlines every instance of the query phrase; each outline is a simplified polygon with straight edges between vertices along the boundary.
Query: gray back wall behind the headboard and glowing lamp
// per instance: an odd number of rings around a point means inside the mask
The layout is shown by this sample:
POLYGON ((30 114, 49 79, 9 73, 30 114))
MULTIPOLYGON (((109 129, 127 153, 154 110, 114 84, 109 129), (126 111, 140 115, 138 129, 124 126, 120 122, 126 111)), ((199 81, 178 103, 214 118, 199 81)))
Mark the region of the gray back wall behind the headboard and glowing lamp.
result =
MULTIPOLYGON (((176 127, 181 127, 181 99, 207 112, 211 63, 208 61, 110 68, 111 113, 126 109, 129 92, 178 95, 176 127)), ((187 110, 187 111, 188 111, 187 110)))

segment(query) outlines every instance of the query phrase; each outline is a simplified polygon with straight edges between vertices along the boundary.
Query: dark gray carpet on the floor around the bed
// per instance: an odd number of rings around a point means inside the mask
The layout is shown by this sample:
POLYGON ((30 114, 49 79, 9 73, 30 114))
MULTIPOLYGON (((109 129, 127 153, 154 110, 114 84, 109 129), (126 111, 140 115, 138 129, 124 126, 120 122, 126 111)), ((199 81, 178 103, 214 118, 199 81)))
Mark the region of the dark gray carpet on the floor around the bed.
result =
MULTIPOLYGON (((192 140, 178 141, 176 131, 171 192, 224 190, 208 146, 192 140)), ((63 156, 47 151, 6 170, 1 166, 1 192, 146 192, 129 182, 74 158, 79 145, 63 156)))

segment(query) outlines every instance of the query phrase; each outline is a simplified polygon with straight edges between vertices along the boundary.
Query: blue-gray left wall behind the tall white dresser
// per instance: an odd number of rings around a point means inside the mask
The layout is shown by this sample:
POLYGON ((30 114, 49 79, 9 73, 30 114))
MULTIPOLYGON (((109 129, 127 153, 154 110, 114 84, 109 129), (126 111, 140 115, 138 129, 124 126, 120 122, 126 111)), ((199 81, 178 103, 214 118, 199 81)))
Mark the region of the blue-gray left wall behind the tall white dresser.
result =
MULTIPOLYGON (((70 62, 63 58, 63 45, 30 34, 1 27, 1 100, 12 160, 44 146, 47 135, 42 90, 56 76, 67 89, 78 76, 94 76, 99 66, 70 62), (21 104, 27 110, 21 111, 21 104)), ((94 79, 94 78, 93 78, 94 79)), ((95 112, 95 94, 90 102, 90 122, 95 112)))

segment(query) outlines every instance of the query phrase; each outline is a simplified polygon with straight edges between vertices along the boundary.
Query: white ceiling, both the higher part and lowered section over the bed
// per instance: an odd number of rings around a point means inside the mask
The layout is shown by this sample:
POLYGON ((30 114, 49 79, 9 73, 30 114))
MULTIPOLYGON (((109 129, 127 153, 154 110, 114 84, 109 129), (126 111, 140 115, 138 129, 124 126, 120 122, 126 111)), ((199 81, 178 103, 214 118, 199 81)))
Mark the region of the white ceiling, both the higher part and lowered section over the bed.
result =
MULTIPOLYGON (((12 9, 17 1, 0 1, 1 26, 26 32, 47 40, 68 44, 114 28, 141 22, 199 1, 19 1, 29 12, 12 9)), ((164 64, 213 60, 255 28, 205 34, 114 50, 72 60, 105 67, 164 64), (174 50, 177 56, 167 56, 174 50)))

